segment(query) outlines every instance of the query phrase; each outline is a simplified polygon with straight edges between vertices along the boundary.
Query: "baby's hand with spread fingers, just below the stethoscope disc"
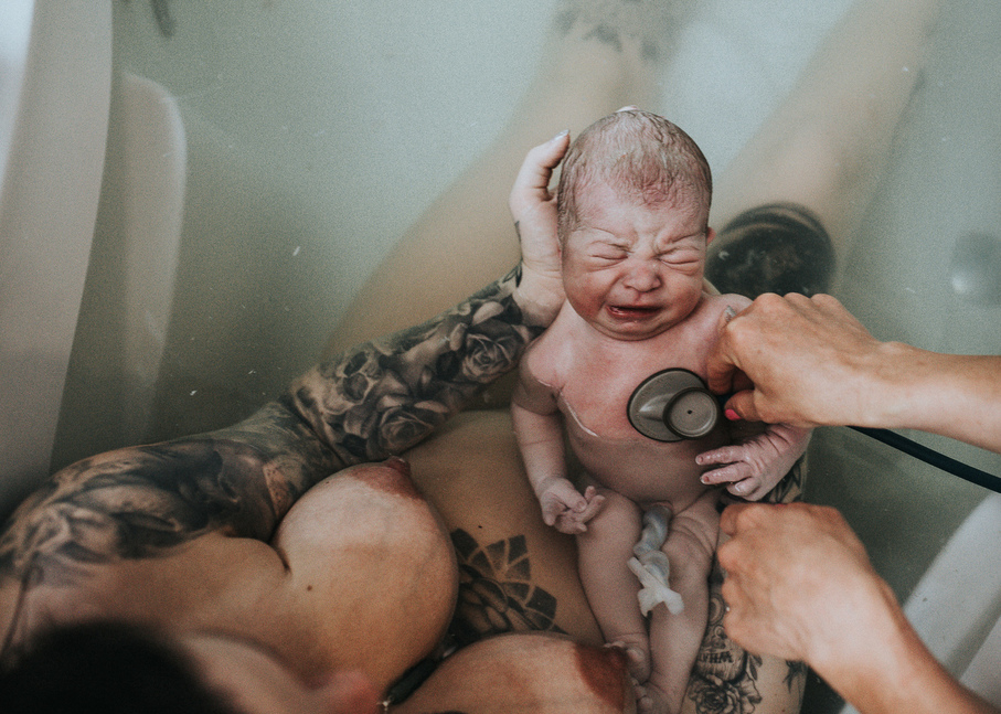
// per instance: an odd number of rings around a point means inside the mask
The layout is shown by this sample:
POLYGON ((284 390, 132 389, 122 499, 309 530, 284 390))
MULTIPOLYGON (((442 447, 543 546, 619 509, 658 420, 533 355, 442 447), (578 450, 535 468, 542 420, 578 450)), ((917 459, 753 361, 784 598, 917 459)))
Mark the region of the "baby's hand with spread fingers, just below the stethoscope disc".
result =
POLYGON ((695 462, 723 468, 702 475, 706 484, 730 483, 726 490, 748 501, 757 501, 775 488, 796 459, 807 450, 810 429, 788 424, 770 424, 764 433, 742 439, 739 444, 705 451, 695 462))

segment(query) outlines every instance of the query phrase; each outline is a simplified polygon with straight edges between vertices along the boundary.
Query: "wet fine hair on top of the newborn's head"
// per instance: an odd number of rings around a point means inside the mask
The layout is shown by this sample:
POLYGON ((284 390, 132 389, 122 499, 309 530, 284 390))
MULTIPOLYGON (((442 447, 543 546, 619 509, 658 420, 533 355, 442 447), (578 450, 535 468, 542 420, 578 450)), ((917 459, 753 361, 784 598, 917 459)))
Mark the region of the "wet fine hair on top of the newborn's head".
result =
POLYGON ((578 224, 582 190, 599 183, 643 203, 688 193, 705 201, 706 209, 713 192, 709 161, 699 145, 663 117, 639 109, 598 119, 566 152, 556 193, 561 243, 578 224))

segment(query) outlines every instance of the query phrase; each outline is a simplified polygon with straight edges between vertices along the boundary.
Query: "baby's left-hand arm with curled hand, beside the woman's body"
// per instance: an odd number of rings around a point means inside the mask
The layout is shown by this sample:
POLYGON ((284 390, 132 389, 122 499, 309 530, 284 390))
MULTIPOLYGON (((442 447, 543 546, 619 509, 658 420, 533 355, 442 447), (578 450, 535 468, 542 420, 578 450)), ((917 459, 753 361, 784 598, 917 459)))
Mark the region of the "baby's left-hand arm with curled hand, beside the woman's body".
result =
POLYGON ((594 487, 582 494, 566 478, 566 454, 563 446, 556 399, 534 379, 529 360, 522 363, 520 379, 511 399, 511 420, 529 475, 529 482, 542 507, 546 525, 562 533, 584 533, 587 521, 601 508, 605 497, 594 487))

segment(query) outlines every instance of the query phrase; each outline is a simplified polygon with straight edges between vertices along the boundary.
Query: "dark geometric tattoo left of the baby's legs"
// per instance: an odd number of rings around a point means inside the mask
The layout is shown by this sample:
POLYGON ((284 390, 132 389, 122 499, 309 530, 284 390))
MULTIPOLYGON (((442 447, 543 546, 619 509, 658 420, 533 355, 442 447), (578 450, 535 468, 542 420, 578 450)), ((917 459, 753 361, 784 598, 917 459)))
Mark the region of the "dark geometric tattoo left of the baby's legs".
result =
POLYGON ((451 626, 457 644, 502 632, 563 632, 553 624, 556 598, 532 583, 523 535, 482 546, 458 529, 451 541, 459 561, 459 603, 451 626))

